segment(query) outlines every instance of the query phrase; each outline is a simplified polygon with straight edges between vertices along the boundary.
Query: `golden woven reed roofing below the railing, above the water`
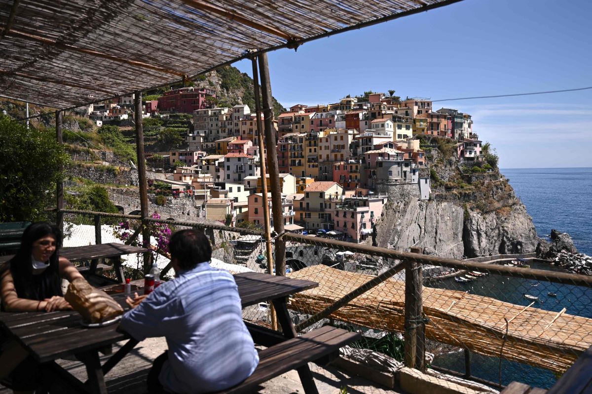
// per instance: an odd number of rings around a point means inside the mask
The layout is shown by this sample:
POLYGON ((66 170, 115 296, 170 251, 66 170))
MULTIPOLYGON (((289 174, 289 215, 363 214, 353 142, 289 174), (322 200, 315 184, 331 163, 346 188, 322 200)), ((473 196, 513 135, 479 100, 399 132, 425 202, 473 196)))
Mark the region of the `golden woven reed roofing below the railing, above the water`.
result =
MULTIPOLYGON (((320 312, 373 276, 324 265, 307 267, 289 277, 313 280, 316 289, 297 293, 290 307, 301 313, 320 312)), ((403 332, 405 284, 387 280, 330 315, 339 321, 379 330, 403 332)), ((485 355, 564 372, 592 345, 592 319, 536 307, 526 308, 490 297, 445 289, 423 288, 423 312, 429 319, 426 337, 467 347, 485 355), (508 335, 506 334, 506 322, 508 335), (505 342, 505 343, 504 343, 505 342)))

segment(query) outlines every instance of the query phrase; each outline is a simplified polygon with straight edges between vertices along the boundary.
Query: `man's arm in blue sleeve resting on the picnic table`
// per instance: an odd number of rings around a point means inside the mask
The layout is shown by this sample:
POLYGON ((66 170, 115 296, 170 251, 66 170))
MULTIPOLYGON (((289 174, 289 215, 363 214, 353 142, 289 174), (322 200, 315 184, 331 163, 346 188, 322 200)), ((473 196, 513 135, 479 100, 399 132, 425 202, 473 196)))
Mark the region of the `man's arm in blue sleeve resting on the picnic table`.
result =
POLYGON ((163 291, 164 288, 165 286, 158 287, 138 306, 123 315, 119 328, 137 341, 149 337, 165 337, 172 332, 170 328, 185 311, 181 300, 167 294, 163 291))

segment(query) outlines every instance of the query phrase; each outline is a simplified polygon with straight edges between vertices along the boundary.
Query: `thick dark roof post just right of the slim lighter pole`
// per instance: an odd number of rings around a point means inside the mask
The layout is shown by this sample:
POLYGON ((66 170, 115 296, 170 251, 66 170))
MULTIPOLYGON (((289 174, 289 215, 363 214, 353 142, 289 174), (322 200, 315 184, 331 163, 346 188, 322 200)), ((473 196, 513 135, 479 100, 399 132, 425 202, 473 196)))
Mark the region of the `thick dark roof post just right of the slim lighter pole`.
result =
MULTIPOLYGON (((269 81, 269 64, 267 54, 259 57, 259 73, 261 76, 261 92, 263 96, 263 116, 265 118, 265 145, 271 183, 272 211, 274 213, 274 229, 278 235, 284 233, 284 207, 279 181, 278 155, 276 153, 276 133, 274 129, 274 104, 272 103, 271 81, 269 81)), ((286 241, 279 236, 275 239, 275 274, 286 274, 286 241)))

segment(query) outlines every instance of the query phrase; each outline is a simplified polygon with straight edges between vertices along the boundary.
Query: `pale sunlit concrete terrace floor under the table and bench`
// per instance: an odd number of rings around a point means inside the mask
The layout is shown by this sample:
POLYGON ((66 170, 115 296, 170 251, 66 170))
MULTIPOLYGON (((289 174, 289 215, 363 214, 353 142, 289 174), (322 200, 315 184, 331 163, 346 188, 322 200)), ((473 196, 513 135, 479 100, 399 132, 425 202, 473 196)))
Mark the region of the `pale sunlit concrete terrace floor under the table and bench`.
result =
MULTIPOLYGON (((124 342, 115 344, 113 353, 123 345, 124 342)), ((140 394, 146 392, 146 375, 152 366, 152 361, 166 350, 164 338, 148 338, 138 344, 114 369, 105 377, 107 389, 110 393, 116 394, 140 394)), ((102 356, 104 362, 110 356, 102 356)), ((61 366, 70 371, 78 379, 86 380, 86 370, 78 361, 58 360, 61 366)), ((314 382, 317 385, 319 394, 339 394, 341 387, 347 387, 348 394, 383 394, 398 393, 385 387, 379 387, 377 383, 352 376, 349 373, 336 369, 335 367, 318 367, 316 364, 309 364, 313 372, 314 382)), ((12 391, 0 385, 0 394, 11 393, 12 391)), ((284 394, 304 393, 300 384, 300 378, 295 370, 289 371, 275 379, 269 380, 261 385, 258 391, 262 394, 284 394)))

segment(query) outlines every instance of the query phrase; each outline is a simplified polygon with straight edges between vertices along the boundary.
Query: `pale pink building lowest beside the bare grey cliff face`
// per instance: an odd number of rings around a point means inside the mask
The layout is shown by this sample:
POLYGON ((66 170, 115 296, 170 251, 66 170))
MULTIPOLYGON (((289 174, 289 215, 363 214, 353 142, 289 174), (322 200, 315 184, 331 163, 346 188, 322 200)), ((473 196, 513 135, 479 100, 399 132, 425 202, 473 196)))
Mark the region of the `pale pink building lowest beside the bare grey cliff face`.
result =
POLYGON ((354 196, 343 198, 332 210, 335 231, 345 238, 360 242, 372 234, 372 229, 382 216, 387 196, 354 196))

